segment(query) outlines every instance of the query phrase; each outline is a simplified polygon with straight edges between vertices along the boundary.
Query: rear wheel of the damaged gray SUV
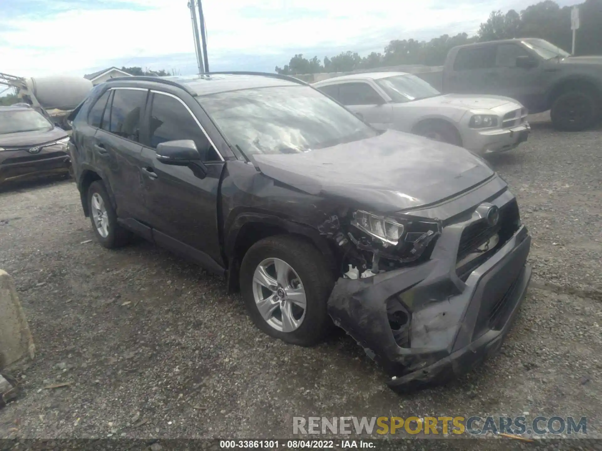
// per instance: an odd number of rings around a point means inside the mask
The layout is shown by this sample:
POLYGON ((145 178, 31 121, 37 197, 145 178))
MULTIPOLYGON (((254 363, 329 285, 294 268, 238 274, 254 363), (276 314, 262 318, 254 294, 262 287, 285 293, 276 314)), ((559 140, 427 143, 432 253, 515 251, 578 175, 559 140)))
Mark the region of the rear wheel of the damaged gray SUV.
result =
POLYGON ((131 241, 131 233, 117 224, 117 212, 100 180, 92 182, 88 188, 88 212, 94 235, 102 246, 113 249, 131 241))

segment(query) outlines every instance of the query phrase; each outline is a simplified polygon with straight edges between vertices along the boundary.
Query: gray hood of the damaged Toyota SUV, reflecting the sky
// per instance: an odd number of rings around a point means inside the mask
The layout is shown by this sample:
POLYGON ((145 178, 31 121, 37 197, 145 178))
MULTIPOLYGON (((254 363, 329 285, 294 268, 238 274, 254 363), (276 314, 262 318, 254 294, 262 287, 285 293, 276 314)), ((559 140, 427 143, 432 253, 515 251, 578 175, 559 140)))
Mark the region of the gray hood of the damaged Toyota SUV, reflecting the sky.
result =
POLYGON ((468 150, 396 130, 310 152, 254 158, 263 174, 281 183, 378 213, 436 203, 494 174, 468 150))

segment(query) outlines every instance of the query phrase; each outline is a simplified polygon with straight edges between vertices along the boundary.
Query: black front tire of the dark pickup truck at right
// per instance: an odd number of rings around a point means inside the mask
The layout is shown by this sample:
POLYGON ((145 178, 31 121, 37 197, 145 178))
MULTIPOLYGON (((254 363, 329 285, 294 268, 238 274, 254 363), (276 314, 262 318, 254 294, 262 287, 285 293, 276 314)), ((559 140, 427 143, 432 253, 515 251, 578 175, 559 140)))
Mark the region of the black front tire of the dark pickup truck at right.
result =
POLYGON ((556 130, 578 132, 591 127, 600 107, 598 96, 589 91, 567 91, 552 103, 550 117, 556 130))

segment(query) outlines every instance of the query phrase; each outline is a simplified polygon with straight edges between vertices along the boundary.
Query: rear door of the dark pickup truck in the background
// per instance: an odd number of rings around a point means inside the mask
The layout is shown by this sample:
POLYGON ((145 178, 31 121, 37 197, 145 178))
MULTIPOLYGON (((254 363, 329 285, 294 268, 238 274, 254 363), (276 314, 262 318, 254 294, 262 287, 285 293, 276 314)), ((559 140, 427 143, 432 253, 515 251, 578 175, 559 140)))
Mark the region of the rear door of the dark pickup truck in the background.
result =
POLYGON ((500 81, 491 44, 458 49, 453 66, 446 70, 445 93, 493 94, 500 81))

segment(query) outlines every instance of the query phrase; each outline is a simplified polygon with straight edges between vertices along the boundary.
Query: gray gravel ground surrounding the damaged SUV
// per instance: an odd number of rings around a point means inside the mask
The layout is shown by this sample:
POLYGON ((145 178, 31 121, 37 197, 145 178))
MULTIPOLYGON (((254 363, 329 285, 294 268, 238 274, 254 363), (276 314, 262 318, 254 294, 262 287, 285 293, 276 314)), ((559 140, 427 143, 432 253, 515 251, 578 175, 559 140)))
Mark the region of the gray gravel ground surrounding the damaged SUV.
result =
POLYGON ((17 374, 22 396, 0 410, 0 437, 290 438, 293 416, 527 412, 587 416, 589 437, 602 438, 601 144, 601 130, 557 133, 544 117, 526 144, 491 158, 533 234, 532 286, 499 354, 409 396, 389 391, 344 334, 285 345, 197 266, 142 241, 88 242, 70 181, 0 192, 0 262, 37 342, 17 374), (70 385, 45 388, 60 382, 70 385))

